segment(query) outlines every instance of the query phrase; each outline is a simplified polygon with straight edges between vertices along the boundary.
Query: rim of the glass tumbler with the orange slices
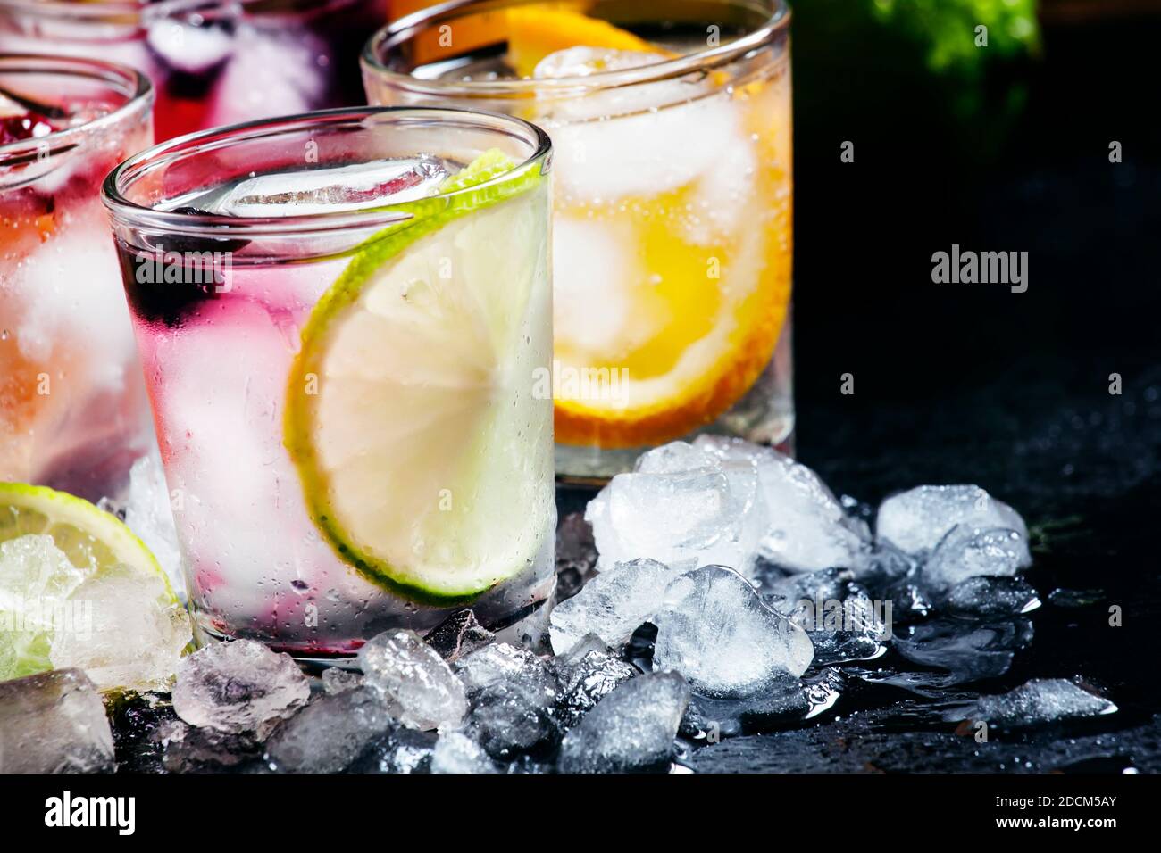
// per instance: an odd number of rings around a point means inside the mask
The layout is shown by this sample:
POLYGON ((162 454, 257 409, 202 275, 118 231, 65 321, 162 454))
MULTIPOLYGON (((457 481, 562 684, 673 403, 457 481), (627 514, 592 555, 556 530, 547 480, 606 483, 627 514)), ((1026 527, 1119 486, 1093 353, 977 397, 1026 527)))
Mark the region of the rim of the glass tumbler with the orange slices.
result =
MULTIPOLYGON (((412 74, 392 71, 380 58, 413 38, 433 22, 445 19, 455 20, 474 10, 473 7, 479 7, 478 12, 484 13, 532 1, 534 0, 446 0, 438 6, 413 12, 377 30, 363 45, 362 55, 359 58, 360 64, 365 71, 378 75, 397 88, 417 94, 452 97, 532 97, 536 94, 548 93, 550 96, 557 97, 577 96, 598 89, 670 80, 726 65, 770 43, 778 35, 785 32, 791 24, 791 9, 786 5, 786 0, 764 0, 772 8, 770 16, 760 27, 729 44, 685 53, 650 65, 600 71, 584 77, 519 80, 423 80, 412 74)), ((740 0, 721 0, 721 2, 722 5, 747 5, 740 0)))

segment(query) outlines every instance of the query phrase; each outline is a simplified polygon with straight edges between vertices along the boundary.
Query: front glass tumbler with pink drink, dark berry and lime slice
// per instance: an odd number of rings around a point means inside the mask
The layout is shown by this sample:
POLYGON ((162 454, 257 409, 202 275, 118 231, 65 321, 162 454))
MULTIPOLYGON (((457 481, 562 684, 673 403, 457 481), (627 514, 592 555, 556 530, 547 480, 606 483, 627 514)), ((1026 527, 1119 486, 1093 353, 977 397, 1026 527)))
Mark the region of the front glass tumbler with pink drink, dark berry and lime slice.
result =
POLYGON ((554 583, 548 137, 445 109, 199 133, 104 185, 199 628, 301 658, 554 583))

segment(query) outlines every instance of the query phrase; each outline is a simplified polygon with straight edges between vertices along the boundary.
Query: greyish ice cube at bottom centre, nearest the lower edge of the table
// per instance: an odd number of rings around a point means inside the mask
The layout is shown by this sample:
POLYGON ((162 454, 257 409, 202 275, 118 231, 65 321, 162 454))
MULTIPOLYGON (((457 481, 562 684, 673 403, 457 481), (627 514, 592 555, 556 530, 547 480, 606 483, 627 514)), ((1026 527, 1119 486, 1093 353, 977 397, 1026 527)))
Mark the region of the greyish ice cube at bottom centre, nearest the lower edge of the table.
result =
POLYGON ((634 773, 668 767, 690 688, 676 672, 632 678, 601 699, 561 742, 562 773, 634 773))

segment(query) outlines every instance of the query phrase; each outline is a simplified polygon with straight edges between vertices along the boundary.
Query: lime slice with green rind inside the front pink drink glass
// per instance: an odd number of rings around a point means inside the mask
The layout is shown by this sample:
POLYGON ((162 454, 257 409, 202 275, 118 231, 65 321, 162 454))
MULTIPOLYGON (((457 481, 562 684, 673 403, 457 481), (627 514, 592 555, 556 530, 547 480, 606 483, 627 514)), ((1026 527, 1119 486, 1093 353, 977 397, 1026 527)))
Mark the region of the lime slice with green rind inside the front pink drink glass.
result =
POLYGON ((373 581, 428 603, 528 568, 555 513, 551 402, 533 397, 551 299, 527 248, 547 243, 547 178, 482 186, 512 167, 482 154, 441 188, 464 191, 368 240, 315 306, 287 385, 315 523, 373 581))

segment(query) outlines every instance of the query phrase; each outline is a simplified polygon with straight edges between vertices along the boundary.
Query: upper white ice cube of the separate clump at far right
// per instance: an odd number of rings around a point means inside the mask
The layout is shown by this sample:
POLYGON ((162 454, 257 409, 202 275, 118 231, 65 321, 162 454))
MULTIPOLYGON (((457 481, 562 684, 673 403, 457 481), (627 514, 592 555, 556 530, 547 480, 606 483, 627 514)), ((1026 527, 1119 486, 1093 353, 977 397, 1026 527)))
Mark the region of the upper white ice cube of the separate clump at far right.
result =
POLYGON ((1025 542, 1019 568, 1032 564, 1027 527, 1015 509, 980 486, 917 486, 882 501, 875 518, 875 535, 911 555, 929 554, 951 528, 1002 527, 1016 530, 1025 542))

